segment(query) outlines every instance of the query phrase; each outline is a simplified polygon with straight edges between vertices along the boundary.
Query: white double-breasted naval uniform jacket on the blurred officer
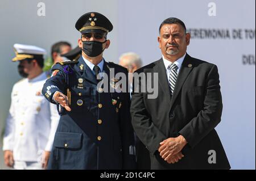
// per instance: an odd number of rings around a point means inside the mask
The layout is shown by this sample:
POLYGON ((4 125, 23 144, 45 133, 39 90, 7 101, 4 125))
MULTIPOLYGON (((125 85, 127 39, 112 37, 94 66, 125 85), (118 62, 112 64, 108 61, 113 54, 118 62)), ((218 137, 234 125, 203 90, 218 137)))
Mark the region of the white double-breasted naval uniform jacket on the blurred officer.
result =
POLYGON ((39 162, 43 151, 52 149, 60 116, 41 93, 46 79, 46 73, 22 79, 11 92, 3 150, 13 150, 14 162, 39 162))

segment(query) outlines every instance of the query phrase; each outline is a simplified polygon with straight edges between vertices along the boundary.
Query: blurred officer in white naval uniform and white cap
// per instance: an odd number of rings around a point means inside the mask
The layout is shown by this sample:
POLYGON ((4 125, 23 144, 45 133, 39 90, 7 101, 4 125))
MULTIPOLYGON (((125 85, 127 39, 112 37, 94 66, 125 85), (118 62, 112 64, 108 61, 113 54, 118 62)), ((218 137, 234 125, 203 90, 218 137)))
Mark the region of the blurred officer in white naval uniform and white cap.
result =
POLYGON ((46 169, 54 134, 59 123, 56 107, 41 94, 47 79, 43 73, 46 50, 32 45, 14 44, 22 80, 11 92, 3 150, 5 164, 14 169, 46 169))

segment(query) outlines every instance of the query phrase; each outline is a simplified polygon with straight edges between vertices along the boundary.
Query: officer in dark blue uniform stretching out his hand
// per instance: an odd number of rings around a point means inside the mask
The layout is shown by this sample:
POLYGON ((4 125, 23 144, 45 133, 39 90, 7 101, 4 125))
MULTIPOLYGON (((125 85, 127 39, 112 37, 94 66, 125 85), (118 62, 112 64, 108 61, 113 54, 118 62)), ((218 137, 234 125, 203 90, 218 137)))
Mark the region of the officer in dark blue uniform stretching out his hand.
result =
MULTIPOLYGON (((112 71, 125 74, 128 85, 127 70, 102 56, 113 25, 104 15, 89 12, 75 27, 81 32, 82 56, 53 66, 42 90, 49 102, 59 105, 61 115, 48 169, 135 169, 129 88, 102 92, 106 87, 97 87, 97 76, 112 71)), ((108 78, 108 89, 117 81, 108 78)))

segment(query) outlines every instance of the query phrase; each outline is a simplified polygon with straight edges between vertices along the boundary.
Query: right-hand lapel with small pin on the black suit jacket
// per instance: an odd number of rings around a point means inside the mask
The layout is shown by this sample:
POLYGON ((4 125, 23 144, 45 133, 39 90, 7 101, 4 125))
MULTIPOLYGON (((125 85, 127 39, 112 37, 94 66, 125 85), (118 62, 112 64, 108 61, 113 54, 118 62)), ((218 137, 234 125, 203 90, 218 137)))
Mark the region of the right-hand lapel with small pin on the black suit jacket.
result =
POLYGON ((171 110, 172 106, 174 105, 177 95, 179 95, 181 87, 183 86, 183 84, 184 84, 185 80, 187 79, 188 74, 191 72, 192 68, 193 68, 193 64, 191 61, 191 57, 188 54, 186 54, 184 61, 181 65, 179 75, 177 77, 177 81, 176 81, 175 88, 174 88, 174 94, 172 95, 172 98, 171 98, 170 110, 171 110))

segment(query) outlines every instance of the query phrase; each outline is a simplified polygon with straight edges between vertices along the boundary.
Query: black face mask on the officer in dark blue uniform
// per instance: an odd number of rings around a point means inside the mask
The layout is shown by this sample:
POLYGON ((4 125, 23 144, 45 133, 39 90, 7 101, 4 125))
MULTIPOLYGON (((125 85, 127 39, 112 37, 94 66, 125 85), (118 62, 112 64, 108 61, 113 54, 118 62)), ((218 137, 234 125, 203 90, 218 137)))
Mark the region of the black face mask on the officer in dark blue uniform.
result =
POLYGON ((82 51, 89 57, 97 57, 104 51, 104 49, 102 49, 102 44, 106 41, 82 41, 82 51))

